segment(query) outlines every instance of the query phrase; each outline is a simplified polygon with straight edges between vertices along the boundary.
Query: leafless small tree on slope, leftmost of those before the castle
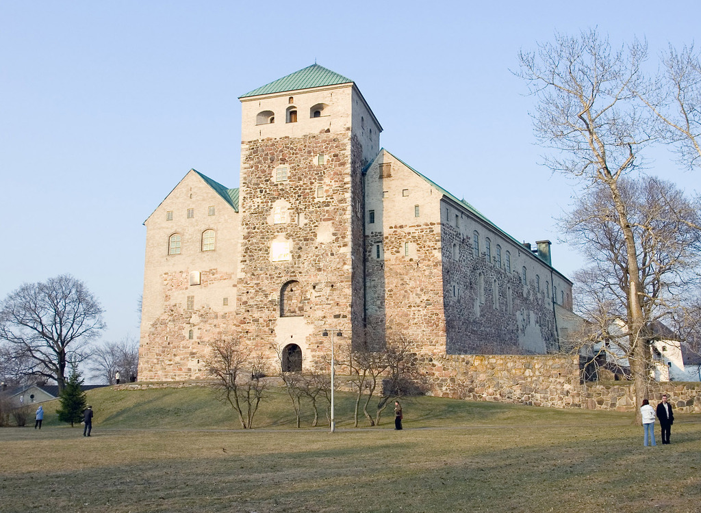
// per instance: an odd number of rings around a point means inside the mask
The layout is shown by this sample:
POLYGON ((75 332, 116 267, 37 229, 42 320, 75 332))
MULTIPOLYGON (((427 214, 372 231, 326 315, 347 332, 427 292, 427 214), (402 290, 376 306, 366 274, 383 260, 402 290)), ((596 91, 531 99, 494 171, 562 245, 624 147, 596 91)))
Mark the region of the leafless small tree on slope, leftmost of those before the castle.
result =
POLYGON ((243 429, 252 427, 253 418, 265 399, 267 383, 261 355, 250 355, 235 338, 219 338, 210 343, 212 353, 205 361, 215 378, 219 399, 231 404, 243 429))

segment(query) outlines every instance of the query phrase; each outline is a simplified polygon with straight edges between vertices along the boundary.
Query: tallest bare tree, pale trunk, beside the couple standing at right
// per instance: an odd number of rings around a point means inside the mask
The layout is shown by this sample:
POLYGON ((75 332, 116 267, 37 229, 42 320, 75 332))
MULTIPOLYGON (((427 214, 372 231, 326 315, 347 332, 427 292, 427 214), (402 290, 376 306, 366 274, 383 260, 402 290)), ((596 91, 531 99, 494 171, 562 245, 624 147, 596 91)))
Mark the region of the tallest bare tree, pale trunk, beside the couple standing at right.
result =
POLYGON ((646 269, 641 268, 641 240, 621 184, 639 169, 642 151, 655 137, 649 110, 639 107, 635 93, 646 57, 646 44, 634 41, 614 50, 595 30, 579 37, 557 34, 554 43, 519 54, 519 75, 538 100, 536 136, 554 150, 546 165, 596 188, 611 205, 610 221, 618 229, 625 264, 610 272, 621 274, 618 297, 625 303, 628 361, 638 402, 647 396, 646 269))

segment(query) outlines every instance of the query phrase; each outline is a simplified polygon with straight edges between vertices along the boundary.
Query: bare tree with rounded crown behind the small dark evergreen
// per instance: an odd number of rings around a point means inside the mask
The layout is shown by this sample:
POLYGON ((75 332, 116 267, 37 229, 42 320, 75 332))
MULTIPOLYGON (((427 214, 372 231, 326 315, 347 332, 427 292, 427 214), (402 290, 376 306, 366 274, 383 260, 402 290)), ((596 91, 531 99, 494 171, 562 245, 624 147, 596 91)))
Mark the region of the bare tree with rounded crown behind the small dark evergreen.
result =
POLYGON ((29 365, 25 374, 54 379, 63 390, 69 362, 88 357, 88 343, 104 329, 102 307, 71 275, 25 283, 0 308, 0 338, 14 357, 29 365))

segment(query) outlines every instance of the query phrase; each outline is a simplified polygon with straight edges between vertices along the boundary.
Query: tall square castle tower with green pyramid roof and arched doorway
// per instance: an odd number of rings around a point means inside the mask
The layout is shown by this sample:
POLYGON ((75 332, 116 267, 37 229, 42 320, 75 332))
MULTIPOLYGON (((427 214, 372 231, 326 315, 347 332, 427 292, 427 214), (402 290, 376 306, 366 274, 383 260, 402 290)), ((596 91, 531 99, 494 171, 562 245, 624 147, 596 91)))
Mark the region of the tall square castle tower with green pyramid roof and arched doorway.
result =
POLYGON ((275 348, 285 371, 319 368, 325 331, 364 341, 362 170, 382 128, 355 83, 318 64, 240 101, 241 339, 275 348))

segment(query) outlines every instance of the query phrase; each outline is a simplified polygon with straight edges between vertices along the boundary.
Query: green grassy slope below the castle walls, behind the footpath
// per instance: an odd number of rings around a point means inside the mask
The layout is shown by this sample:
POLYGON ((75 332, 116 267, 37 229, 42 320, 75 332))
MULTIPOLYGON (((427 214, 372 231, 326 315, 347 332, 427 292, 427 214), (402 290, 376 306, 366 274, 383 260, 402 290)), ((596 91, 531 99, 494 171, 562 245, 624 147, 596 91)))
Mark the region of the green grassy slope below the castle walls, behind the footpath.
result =
MULTIPOLYGON (((255 428, 292 428, 294 411, 282 390, 270 390, 254 418, 255 428)), ((106 387, 88 392, 88 402, 95 411, 93 427, 139 429, 239 429, 238 416, 228 403, 219 402, 210 388, 160 388, 151 390, 114 390, 106 387)), ((355 399, 351 394, 336 393, 336 426, 353 427, 355 399)), ((325 423, 320 404, 320 428, 325 423)), ((374 409, 376 402, 371 403, 374 409)), ((57 401, 46 403, 44 423, 62 425, 57 420, 57 401)), ((511 425, 558 423, 630 423, 632 415, 618 412, 558 410, 515 406, 491 402, 465 402, 439 397, 411 397, 402 400, 407 427, 451 427, 465 425, 511 425)), ((372 410, 371 410, 372 411, 372 410)), ((303 403, 302 426, 309 427, 311 406, 303 403)), ((360 427, 369 424, 360 412, 360 427)), ((393 426, 393 405, 383 412, 381 427, 393 426)))

